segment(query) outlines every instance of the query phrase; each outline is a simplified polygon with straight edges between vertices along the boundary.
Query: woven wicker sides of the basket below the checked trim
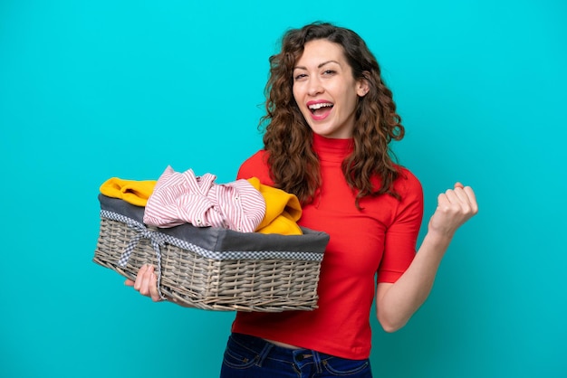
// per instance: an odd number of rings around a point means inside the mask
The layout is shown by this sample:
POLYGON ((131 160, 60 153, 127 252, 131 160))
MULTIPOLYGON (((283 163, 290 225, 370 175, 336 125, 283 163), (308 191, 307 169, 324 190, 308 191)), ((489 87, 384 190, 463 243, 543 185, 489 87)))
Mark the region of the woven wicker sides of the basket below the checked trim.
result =
MULTIPOLYGON (((158 268, 156 252, 144 238, 132 250, 127 265, 120 268, 120 256, 135 236, 125 223, 101 218, 94 262, 128 279, 136 279, 144 264, 158 268)), ((213 260, 168 243, 160 252, 161 293, 184 306, 261 312, 317 308, 321 261, 213 260)))

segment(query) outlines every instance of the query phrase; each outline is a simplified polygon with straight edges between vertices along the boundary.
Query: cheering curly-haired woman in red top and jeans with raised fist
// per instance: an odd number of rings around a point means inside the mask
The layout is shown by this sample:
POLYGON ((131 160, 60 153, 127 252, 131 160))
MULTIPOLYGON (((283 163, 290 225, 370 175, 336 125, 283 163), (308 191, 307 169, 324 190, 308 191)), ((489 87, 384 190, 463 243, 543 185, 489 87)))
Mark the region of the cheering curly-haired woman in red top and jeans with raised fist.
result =
MULTIPOLYGON (((404 128, 366 43, 345 28, 308 24, 284 34, 270 63, 264 149, 238 178, 296 194, 299 223, 331 238, 319 308, 237 313, 221 376, 371 377, 373 300, 387 332, 408 322, 428 298, 456 229, 476 214, 475 194, 457 183, 438 196, 416 254, 422 189, 390 158, 389 142, 404 128)), ((153 268, 128 284, 159 300, 153 268)))

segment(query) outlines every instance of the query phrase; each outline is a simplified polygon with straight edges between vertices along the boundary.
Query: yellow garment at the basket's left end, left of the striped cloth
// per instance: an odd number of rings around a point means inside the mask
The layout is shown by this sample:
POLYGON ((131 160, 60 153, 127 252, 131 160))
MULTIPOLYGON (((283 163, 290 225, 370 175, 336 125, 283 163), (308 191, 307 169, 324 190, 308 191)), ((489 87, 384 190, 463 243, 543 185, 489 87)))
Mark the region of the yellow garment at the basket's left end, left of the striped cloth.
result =
POLYGON ((101 194, 107 197, 120 198, 136 206, 146 206, 156 183, 155 180, 134 181, 112 177, 101 184, 101 194))

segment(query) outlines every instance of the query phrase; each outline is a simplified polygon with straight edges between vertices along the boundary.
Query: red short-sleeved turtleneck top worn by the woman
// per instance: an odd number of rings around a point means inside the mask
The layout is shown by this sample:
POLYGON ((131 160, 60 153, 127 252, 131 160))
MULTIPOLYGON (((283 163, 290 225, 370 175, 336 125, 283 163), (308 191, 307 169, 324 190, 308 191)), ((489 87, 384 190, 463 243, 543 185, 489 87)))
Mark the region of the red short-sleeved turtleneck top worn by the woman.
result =
MULTIPOLYGON (((352 151, 351 139, 313 136, 320 158, 322 186, 313 203, 303 206, 299 224, 331 236, 322 260, 319 308, 313 311, 236 314, 233 332, 255 335, 343 358, 370 355, 370 308, 378 282, 395 282, 416 253, 423 216, 418 179, 399 167, 394 183, 401 200, 384 194, 360 201, 346 183, 341 162, 352 151)), ((266 151, 240 167, 238 178, 258 177, 273 185, 266 151)))

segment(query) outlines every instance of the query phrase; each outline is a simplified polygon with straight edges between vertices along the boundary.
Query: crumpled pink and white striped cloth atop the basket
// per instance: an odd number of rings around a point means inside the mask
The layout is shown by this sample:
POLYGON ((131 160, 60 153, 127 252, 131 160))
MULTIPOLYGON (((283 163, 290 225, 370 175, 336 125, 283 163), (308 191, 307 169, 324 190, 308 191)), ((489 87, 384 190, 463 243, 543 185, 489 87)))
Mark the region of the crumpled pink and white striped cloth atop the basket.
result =
POLYGON ((149 196, 144 223, 162 228, 191 223, 255 232, 265 214, 264 196, 247 180, 215 184, 216 175, 178 173, 168 165, 149 196))

